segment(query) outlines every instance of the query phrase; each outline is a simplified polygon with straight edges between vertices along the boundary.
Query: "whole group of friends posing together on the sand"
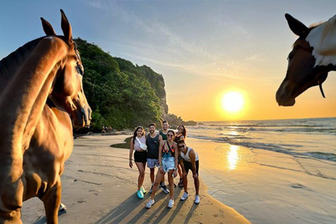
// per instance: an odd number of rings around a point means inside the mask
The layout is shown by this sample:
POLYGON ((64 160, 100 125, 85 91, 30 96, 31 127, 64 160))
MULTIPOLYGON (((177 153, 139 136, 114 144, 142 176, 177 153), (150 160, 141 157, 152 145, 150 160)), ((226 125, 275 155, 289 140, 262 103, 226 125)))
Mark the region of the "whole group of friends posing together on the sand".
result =
POLYGON ((186 146, 186 127, 179 125, 178 132, 169 130, 169 123, 165 120, 162 122, 162 130, 156 131, 155 123, 149 125, 149 134, 146 135, 143 127, 137 127, 130 141, 130 167, 133 167, 132 155, 134 151, 134 162, 139 170, 137 197, 144 199, 147 193, 143 183, 145 178, 146 163, 151 170, 151 197, 146 208, 151 208, 155 203, 154 197, 158 187, 166 194, 170 193, 168 208, 174 206, 174 178, 180 176, 179 186, 184 188, 181 200, 186 200, 188 194, 189 170, 193 172, 195 183, 195 203, 200 203, 200 181, 198 179, 199 158, 193 148, 186 146), (155 167, 158 172, 155 177, 155 167), (169 190, 165 186, 165 174, 168 176, 169 190))

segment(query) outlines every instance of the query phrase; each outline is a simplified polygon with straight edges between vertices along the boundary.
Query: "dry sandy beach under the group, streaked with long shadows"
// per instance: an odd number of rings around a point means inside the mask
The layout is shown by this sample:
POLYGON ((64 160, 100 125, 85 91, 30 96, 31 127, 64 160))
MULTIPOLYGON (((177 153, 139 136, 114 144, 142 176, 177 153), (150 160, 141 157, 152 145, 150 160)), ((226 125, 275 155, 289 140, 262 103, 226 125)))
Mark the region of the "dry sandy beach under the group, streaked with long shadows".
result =
MULTIPOLYGON (((67 213, 59 216, 59 223, 249 223, 235 209, 207 194, 203 179, 207 163, 202 162, 202 155, 200 204, 193 202, 195 190, 189 184, 188 200, 180 201, 183 190, 176 188, 175 205, 167 209, 169 197, 158 190, 155 204, 146 209, 149 194, 144 200, 135 195, 138 171, 136 167, 128 167, 129 151, 110 147, 123 143, 127 137, 89 135, 75 139, 73 153, 62 175, 62 203, 67 213)), ((211 162, 211 158, 207 161, 211 162)), ((189 183, 193 183, 191 175, 189 183)), ((149 169, 146 169, 144 186, 147 189, 151 186, 149 169)), ((45 223, 43 203, 37 198, 25 202, 22 222, 45 223)))

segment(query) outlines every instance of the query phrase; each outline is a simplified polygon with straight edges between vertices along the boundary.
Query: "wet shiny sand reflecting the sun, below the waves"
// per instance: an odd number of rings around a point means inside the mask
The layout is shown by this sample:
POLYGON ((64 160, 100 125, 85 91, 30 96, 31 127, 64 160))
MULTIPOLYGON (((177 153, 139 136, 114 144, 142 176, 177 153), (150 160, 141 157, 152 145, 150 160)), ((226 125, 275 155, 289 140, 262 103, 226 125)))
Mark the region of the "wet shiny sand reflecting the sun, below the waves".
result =
POLYGON ((251 223, 335 223, 336 162, 187 139, 208 193, 251 223))

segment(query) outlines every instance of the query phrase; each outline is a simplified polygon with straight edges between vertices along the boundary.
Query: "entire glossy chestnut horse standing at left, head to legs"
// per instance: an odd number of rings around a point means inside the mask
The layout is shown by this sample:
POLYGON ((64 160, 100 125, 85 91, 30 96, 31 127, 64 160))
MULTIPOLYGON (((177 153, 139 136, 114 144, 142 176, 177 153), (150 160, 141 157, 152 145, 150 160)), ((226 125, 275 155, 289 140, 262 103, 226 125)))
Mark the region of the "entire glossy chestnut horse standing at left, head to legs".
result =
POLYGON ((47 36, 0 61, 0 223, 21 223, 22 202, 36 196, 47 223, 58 222, 60 175, 73 149, 71 118, 75 127, 90 124, 83 66, 61 13, 64 36, 41 18, 47 36))

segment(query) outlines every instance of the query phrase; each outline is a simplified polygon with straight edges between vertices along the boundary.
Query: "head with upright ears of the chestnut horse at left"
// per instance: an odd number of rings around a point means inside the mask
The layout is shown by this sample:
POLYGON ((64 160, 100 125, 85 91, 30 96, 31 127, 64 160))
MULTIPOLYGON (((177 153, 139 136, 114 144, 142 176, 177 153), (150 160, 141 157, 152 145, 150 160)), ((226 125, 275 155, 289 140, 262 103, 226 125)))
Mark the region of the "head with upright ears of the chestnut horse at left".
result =
MULTIPOLYGON (((62 13, 62 38, 68 45, 66 58, 62 60, 61 66, 57 71, 57 76, 52 83, 49 99, 57 109, 66 111, 70 114, 75 127, 87 127, 90 125, 91 108, 87 103, 83 91, 84 69, 80 61, 80 55, 76 43, 72 40, 71 25, 67 20, 63 10, 62 13)), ((41 18, 43 30, 47 36, 55 36, 49 22, 41 18)))

